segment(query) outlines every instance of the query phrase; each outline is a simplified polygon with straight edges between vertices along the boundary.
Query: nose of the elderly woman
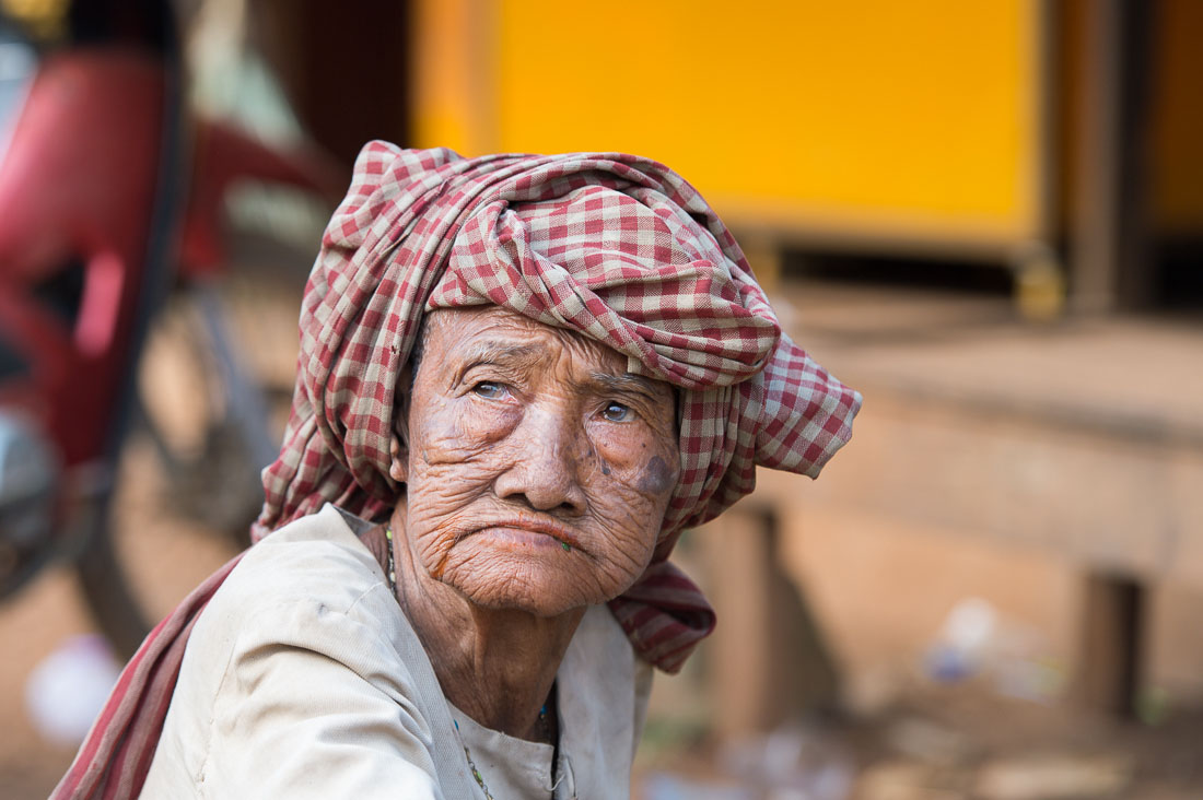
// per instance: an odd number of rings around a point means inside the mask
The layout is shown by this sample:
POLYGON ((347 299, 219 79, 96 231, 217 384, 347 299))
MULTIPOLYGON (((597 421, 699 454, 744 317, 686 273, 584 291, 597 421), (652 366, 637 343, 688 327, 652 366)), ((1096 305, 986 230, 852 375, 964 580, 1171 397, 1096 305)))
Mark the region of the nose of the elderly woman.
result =
POLYGON ((583 514, 579 449, 585 435, 564 414, 528 410, 522 425, 510 433, 512 455, 494 481, 497 496, 539 511, 583 514))

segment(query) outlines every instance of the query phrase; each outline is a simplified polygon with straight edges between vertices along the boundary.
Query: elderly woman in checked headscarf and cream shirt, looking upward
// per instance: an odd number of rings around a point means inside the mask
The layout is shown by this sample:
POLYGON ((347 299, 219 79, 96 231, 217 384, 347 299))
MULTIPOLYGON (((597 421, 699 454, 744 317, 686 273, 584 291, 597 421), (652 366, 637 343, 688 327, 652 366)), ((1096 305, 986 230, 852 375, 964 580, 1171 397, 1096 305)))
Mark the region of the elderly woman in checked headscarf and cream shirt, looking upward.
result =
POLYGON ((859 403, 663 165, 371 143, 262 540, 152 634, 57 796, 627 796, 652 665, 713 627, 677 535, 757 464, 816 475, 859 403))

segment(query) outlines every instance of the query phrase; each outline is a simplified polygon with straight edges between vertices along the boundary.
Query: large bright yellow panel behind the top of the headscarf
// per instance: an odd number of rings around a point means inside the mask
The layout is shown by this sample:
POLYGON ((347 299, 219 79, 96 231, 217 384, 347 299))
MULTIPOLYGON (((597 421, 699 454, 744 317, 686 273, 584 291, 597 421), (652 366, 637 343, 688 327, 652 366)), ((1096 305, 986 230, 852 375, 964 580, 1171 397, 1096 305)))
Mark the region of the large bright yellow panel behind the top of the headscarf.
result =
POLYGON ((491 122, 423 144, 651 155, 721 212, 784 225, 1037 227, 1033 0, 502 0, 492 16, 491 122))

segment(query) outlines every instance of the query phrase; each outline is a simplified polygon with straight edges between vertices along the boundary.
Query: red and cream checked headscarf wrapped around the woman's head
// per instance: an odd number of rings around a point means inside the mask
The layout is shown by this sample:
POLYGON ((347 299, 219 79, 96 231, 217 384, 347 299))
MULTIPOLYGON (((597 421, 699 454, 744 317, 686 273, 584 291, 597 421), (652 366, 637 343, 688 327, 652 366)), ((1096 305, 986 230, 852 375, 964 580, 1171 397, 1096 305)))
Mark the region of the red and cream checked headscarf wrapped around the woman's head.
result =
POLYGON ((488 303, 680 387, 681 479, 652 565, 611 603, 636 651, 676 671, 713 627, 666 562, 680 532, 751 492, 757 464, 817 475, 860 396, 781 332, 727 227, 648 159, 369 143, 306 290, 292 411, 254 535, 326 502, 386 516, 402 491, 389 475, 398 378, 422 315, 488 303))

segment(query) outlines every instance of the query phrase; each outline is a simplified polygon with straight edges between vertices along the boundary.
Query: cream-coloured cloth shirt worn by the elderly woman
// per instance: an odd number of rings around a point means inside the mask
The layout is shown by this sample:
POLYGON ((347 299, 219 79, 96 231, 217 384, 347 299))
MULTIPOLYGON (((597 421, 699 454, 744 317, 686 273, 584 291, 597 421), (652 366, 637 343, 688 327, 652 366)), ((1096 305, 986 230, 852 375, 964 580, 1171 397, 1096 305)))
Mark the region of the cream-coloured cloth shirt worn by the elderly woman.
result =
MULTIPOLYGON (((143 798, 628 798, 651 668, 604 606, 557 672, 559 762, 454 709, 363 523, 332 505, 255 545, 188 642, 143 798), (458 723, 458 724, 457 724, 458 723)), ((487 687, 481 687, 487 691, 487 687)))

